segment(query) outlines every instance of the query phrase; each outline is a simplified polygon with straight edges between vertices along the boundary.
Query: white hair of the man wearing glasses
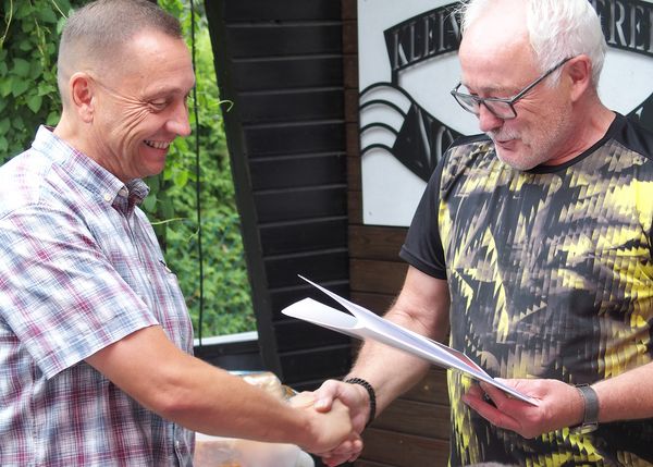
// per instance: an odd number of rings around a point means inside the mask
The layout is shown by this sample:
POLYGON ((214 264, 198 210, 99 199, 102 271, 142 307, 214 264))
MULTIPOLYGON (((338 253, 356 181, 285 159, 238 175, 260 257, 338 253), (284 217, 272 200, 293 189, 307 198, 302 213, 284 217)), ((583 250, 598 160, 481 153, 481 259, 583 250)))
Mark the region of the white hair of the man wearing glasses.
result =
MULTIPOLYGON (((565 59, 586 54, 592 63, 592 84, 599 85, 607 45, 601 20, 588 0, 522 0, 535 61, 544 73, 565 59)), ((464 0, 459 14, 463 34, 496 0, 464 0)), ((554 73, 556 82, 559 73, 554 73)))

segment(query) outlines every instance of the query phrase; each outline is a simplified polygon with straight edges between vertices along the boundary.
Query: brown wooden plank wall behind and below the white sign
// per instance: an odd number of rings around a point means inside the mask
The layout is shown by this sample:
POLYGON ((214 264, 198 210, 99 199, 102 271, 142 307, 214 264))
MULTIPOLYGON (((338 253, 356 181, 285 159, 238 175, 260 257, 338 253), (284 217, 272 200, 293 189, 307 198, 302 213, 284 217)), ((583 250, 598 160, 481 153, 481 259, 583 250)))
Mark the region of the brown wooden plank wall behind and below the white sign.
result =
MULTIPOLYGON (((382 312, 399 292, 406 274, 407 266, 398 257, 406 229, 362 224, 356 0, 342 0, 342 4, 350 296, 354 302, 382 312)), ((393 403, 365 431, 366 447, 354 465, 445 466, 449 451, 448 430, 446 373, 433 368, 424 380, 393 403)))

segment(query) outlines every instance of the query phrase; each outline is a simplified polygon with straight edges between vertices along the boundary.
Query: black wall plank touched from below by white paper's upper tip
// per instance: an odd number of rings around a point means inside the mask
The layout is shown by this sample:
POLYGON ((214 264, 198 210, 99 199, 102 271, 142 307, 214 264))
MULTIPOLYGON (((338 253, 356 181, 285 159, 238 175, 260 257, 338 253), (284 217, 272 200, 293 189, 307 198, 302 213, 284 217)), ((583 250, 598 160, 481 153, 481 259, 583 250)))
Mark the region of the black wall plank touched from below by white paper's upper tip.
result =
POLYGON ((333 249, 292 256, 278 256, 264 259, 266 273, 270 287, 293 285, 297 274, 315 282, 346 279, 349 257, 346 249, 333 249))

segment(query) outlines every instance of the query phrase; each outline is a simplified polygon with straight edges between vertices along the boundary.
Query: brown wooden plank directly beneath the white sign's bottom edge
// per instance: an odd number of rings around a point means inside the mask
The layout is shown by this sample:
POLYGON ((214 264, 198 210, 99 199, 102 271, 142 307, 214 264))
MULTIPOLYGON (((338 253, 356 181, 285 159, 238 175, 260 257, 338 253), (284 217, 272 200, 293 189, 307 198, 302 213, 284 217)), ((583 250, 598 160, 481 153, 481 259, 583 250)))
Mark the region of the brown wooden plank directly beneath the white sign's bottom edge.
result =
POLYGON ((352 225, 349 253, 353 258, 402 261, 399 249, 406 238, 406 229, 352 225))

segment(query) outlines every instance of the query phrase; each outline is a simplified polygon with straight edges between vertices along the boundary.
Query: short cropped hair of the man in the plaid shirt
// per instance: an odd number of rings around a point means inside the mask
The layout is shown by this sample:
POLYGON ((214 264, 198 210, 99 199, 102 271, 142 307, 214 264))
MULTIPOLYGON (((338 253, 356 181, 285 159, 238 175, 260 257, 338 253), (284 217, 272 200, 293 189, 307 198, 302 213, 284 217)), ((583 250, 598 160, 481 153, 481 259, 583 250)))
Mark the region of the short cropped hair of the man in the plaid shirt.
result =
POLYGON ((59 44, 57 78, 62 99, 72 73, 120 58, 122 47, 146 29, 183 39, 178 20, 149 0, 96 0, 75 11, 59 44))

